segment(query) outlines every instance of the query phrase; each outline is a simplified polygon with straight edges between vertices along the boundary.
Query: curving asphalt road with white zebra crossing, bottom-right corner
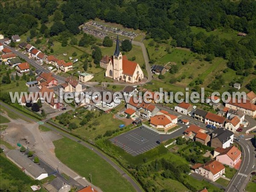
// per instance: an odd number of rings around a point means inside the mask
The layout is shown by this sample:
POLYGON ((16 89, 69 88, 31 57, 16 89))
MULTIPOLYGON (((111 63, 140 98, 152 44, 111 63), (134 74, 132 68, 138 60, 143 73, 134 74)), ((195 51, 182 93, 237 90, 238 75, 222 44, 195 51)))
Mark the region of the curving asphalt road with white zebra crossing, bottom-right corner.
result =
POLYGON ((239 138, 239 145, 241 145, 242 151, 242 163, 239 170, 234 175, 233 179, 227 186, 227 192, 241 192, 247 185, 247 177, 250 177, 250 172, 252 171, 255 163, 255 151, 250 140, 244 140, 239 138))

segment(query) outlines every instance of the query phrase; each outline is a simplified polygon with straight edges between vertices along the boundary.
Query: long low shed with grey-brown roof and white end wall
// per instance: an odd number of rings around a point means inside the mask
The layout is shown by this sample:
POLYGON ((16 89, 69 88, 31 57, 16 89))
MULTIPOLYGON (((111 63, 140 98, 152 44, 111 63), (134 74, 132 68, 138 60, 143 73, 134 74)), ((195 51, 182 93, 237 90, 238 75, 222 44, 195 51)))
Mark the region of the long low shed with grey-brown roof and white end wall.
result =
POLYGON ((42 180, 48 177, 48 173, 44 169, 18 150, 10 150, 6 154, 6 157, 15 163, 26 175, 29 175, 35 180, 42 180))

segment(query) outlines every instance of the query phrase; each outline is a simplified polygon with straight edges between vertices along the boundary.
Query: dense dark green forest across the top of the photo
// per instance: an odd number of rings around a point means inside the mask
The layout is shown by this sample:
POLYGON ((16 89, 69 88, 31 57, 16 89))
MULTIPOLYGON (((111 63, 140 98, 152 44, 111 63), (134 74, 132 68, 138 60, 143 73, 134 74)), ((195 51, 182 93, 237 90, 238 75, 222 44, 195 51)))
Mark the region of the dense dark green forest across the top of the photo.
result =
POLYGON ((155 41, 172 38, 174 47, 223 57, 228 60, 228 67, 239 73, 250 70, 256 56, 256 1, 253 0, 66 0, 60 5, 55 0, 1 2, 0 30, 7 36, 22 35, 38 27, 38 22, 45 37, 64 31, 76 35, 80 32, 79 25, 98 17, 145 31, 146 38, 155 41), (54 24, 48 29, 44 23, 50 15, 54 15, 54 24), (191 26, 202 27, 207 32, 223 27, 247 36, 239 41, 221 39, 204 32, 192 33, 191 26))

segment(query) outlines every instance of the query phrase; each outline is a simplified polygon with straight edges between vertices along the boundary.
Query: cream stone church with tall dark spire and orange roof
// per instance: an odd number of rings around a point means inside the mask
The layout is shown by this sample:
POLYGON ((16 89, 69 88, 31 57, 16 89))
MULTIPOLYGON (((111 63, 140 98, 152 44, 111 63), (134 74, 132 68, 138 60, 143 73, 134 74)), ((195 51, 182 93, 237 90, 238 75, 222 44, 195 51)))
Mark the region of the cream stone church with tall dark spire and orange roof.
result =
POLYGON ((116 81, 137 83, 144 78, 140 65, 129 61, 126 55, 122 56, 119 48, 119 38, 116 38, 116 50, 112 57, 105 56, 101 62, 106 64, 105 76, 116 81))

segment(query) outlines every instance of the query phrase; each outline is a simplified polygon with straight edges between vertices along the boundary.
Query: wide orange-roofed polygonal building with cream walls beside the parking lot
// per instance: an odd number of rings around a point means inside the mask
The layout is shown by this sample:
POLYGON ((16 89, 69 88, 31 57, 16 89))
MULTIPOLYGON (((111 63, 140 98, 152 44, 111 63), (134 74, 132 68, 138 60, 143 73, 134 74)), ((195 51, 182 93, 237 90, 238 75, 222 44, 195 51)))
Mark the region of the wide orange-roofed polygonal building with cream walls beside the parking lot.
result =
POLYGON ((150 126, 158 131, 167 132, 177 124, 178 117, 168 113, 167 111, 158 111, 155 116, 150 117, 150 126))

